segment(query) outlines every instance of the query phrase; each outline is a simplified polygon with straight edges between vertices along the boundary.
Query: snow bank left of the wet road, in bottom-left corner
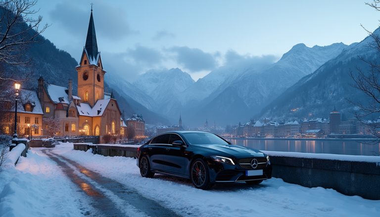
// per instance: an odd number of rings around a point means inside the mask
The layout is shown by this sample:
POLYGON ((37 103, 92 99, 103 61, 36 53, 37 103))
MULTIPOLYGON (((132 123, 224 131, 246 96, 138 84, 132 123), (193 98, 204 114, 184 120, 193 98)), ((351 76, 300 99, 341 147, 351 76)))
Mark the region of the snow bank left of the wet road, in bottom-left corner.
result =
POLYGON ((46 155, 29 150, 0 173, 0 217, 83 216, 75 187, 46 155))

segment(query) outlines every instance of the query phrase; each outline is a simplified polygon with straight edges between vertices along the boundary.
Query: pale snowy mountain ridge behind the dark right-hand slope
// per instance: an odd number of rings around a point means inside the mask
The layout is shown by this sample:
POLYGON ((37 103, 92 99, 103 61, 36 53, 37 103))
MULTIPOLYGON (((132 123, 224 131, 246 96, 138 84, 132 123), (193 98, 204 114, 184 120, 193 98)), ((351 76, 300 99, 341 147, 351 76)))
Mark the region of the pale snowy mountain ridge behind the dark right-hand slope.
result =
POLYGON ((229 123, 227 117, 230 116, 234 117, 235 123, 245 121, 286 88, 340 54, 346 47, 343 43, 313 47, 301 43, 294 45, 278 62, 267 67, 240 69, 239 73, 230 71, 230 76, 226 76, 225 81, 196 104, 196 108, 186 106, 191 110, 185 114, 199 117, 199 120, 192 118, 194 124, 198 125, 205 118, 222 124, 229 123))

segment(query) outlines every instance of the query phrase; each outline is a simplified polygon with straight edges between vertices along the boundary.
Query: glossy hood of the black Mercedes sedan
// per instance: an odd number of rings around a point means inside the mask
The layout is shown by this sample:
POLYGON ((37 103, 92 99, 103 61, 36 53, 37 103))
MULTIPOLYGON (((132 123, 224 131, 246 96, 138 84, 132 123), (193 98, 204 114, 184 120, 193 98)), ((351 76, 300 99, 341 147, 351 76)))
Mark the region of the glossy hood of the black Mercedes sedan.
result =
POLYGON ((236 157, 243 157, 244 156, 253 156, 253 157, 264 157, 264 153, 262 153, 259 150, 247 148, 243 146, 238 145, 197 145, 199 148, 207 150, 209 152, 215 153, 215 154, 223 154, 222 157, 228 157, 228 156, 236 156, 236 157))

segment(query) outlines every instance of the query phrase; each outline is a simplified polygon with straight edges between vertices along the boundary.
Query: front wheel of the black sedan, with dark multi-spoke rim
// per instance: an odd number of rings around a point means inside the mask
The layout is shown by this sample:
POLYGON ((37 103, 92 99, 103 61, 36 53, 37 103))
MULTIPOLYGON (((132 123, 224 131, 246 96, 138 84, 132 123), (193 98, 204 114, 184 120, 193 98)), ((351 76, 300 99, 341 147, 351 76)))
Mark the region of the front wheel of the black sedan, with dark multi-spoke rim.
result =
POLYGON ((190 179, 196 188, 206 190, 211 187, 208 168, 202 159, 196 159, 191 164, 190 179))

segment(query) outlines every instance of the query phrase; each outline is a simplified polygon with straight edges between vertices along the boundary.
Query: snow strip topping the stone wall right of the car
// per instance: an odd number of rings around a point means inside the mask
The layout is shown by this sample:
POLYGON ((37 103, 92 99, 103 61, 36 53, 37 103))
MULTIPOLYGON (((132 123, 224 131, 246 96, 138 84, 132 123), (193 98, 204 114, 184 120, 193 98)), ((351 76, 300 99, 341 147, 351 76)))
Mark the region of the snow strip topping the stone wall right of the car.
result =
POLYGON ((270 156, 295 157, 295 158, 317 158, 338 161, 355 161, 355 162, 374 162, 380 163, 380 156, 359 156, 359 155, 340 155, 340 154, 314 154, 299 152, 282 152, 282 151, 262 151, 270 156))

